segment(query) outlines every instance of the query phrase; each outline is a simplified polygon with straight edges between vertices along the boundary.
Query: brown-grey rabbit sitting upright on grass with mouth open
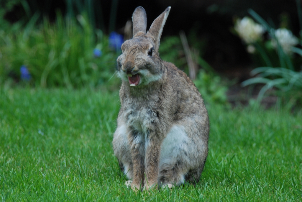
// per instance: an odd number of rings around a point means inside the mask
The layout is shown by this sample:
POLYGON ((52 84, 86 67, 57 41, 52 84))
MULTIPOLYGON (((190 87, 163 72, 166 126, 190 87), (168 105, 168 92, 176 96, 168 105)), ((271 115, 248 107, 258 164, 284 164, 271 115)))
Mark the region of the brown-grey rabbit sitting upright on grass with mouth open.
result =
POLYGON ((134 191, 195 184, 207 159, 210 126, 201 94, 158 53, 170 8, 146 32, 146 11, 137 7, 133 38, 117 58, 121 106, 112 145, 134 191))

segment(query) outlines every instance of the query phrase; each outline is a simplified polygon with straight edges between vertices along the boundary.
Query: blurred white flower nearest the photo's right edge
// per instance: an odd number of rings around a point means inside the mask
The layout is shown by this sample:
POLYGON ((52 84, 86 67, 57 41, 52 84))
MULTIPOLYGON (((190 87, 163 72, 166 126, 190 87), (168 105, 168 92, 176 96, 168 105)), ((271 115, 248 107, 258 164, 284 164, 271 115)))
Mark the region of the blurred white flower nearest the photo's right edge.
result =
MULTIPOLYGON (((298 44, 298 39, 293 35, 293 33, 285 28, 279 28, 275 30, 275 37, 278 40, 283 51, 287 54, 291 53, 291 48, 298 44)), ((272 40, 272 45, 276 48, 277 43, 275 40, 272 40)))

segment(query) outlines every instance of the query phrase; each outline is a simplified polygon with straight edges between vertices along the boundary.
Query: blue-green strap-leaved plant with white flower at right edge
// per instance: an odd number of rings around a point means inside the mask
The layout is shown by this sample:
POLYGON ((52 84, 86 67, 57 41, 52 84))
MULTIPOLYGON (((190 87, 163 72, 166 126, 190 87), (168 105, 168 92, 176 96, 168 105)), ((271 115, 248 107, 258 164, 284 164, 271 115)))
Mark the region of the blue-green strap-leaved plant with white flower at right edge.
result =
MULTIPOLYGON (((299 4, 297 3, 297 5, 299 4)), ((291 36, 291 32, 285 29, 275 30, 255 11, 250 9, 249 13, 253 18, 255 18, 256 21, 265 27, 272 37, 272 42, 275 43, 276 46, 280 66, 272 67, 265 50, 260 50, 261 55, 265 59, 268 67, 259 67, 254 69, 251 74, 254 76, 257 75, 257 77, 244 81, 242 85, 247 86, 257 83, 265 84, 259 92, 258 101, 261 101, 265 92, 273 87, 282 91, 301 91, 302 71, 298 70, 297 67, 294 66, 293 59, 291 57, 292 52, 302 56, 302 50, 294 47, 294 44, 297 42, 301 43, 301 40, 291 36), (281 36, 283 38, 281 38, 281 36)))

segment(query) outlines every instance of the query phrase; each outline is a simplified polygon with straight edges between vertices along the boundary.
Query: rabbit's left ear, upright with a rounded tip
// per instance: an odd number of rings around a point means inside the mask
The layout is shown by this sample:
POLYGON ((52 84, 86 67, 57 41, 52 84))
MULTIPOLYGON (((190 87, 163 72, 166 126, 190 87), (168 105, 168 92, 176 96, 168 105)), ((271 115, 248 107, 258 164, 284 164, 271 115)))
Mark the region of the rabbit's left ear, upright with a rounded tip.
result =
POLYGON ((133 37, 138 32, 143 32, 144 34, 146 34, 147 14, 143 7, 139 6, 135 8, 132 14, 132 22, 133 22, 133 37))

